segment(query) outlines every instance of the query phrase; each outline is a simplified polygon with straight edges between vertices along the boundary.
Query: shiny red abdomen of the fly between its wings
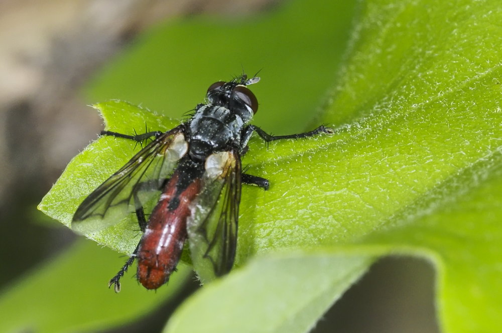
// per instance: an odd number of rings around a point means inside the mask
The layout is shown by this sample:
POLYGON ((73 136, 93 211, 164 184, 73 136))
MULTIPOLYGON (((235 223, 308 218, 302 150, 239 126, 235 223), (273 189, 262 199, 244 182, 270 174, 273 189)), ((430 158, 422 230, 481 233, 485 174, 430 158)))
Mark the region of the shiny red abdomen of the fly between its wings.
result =
POLYGON ((147 289, 157 289, 169 280, 187 238, 186 222, 190 214, 189 205, 199 192, 200 180, 193 180, 176 197, 177 181, 178 173, 175 172, 152 211, 141 238, 137 253, 137 276, 147 289), (179 203, 170 205, 173 199, 179 200, 179 203))

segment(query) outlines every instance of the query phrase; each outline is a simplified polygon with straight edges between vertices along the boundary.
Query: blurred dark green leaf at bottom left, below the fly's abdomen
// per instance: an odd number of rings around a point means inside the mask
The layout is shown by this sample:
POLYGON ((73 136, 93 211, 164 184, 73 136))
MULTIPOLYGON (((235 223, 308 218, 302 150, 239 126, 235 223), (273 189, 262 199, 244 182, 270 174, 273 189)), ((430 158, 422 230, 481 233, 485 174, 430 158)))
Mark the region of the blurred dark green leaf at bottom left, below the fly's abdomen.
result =
POLYGON ((122 291, 116 294, 106 288, 107 278, 123 261, 114 251, 78 241, 0 293, 0 331, 105 331, 156 309, 180 289, 191 272, 179 265, 169 288, 157 292, 135 288, 131 274, 122 278, 122 291))

